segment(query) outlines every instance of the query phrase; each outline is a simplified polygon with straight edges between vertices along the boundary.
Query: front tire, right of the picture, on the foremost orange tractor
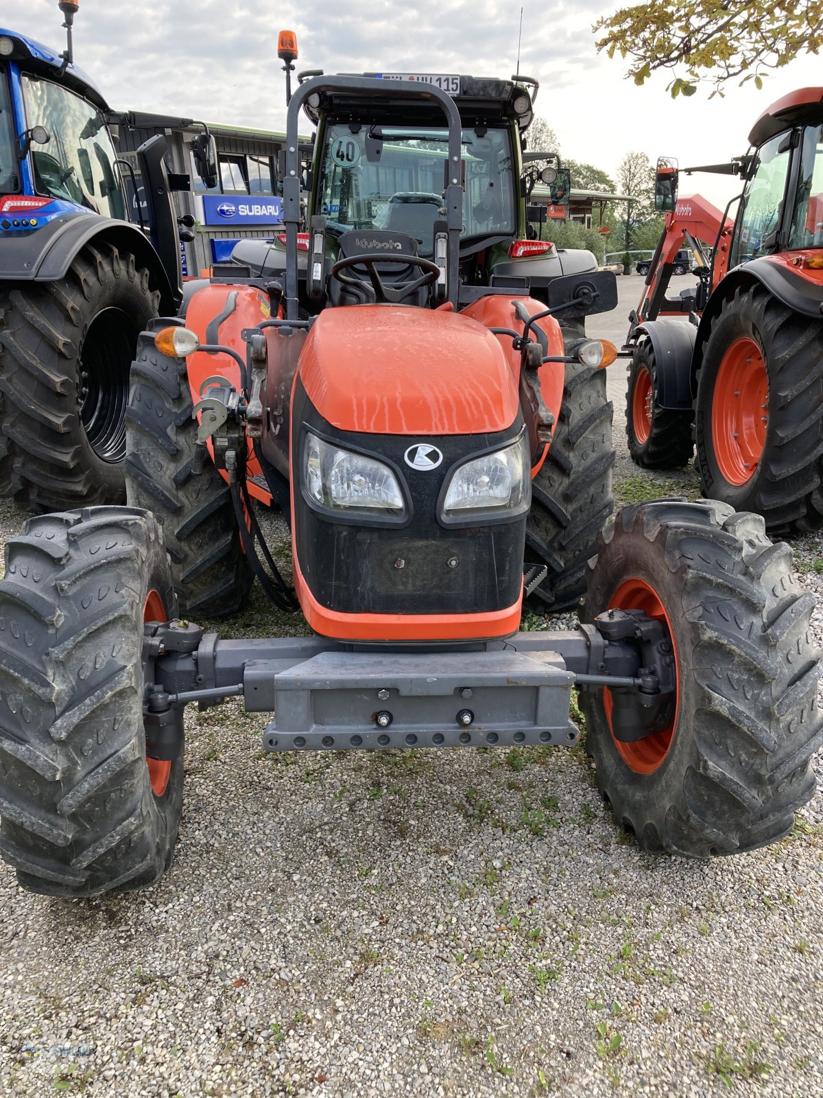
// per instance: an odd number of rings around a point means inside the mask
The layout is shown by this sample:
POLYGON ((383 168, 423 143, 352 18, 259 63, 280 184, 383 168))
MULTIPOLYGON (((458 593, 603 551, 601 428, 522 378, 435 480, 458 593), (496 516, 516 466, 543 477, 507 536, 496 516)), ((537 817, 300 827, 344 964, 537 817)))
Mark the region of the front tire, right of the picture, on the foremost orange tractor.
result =
POLYGON ((627 578, 650 584, 672 623, 679 712, 656 770, 638 773, 611 735, 604 691, 583 692, 586 741, 615 815, 649 851, 691 858, 774 842, 814 793, 823 743, 814 598, 759 515, 714 501, 623 508, 600 538, 585 618, 627 578))

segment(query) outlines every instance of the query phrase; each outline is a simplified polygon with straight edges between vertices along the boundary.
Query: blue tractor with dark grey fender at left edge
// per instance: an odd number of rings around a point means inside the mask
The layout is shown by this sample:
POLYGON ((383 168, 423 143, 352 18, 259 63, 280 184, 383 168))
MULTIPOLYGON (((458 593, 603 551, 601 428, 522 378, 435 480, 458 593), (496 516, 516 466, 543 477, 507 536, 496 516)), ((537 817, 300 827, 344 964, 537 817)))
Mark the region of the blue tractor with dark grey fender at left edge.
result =
POLYGON ((124 500, 137 336, 182 291, 166 141, 138 183, 58 7, 63 54, 0 29, 0 494, 36 511, 124 500))

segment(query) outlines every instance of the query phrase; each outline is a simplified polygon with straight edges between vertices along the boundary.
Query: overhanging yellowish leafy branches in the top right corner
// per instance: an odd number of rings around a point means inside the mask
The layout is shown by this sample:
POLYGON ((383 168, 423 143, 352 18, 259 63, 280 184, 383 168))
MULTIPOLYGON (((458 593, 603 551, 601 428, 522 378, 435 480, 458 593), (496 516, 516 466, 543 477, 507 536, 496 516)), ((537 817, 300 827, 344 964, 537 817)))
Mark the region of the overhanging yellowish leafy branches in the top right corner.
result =
POLYGON ((694 96, 699 82, 713 81, 710 99, 726 80, 742 77, 763 87, 767 69, 782 68, 801 53, 823 45, 823 0, 645 0, 599 19, 596 43, 629 58, 636 85, 668 69, 672 97, 694 96), (681 75, 676 75, 676 69, 681 75))

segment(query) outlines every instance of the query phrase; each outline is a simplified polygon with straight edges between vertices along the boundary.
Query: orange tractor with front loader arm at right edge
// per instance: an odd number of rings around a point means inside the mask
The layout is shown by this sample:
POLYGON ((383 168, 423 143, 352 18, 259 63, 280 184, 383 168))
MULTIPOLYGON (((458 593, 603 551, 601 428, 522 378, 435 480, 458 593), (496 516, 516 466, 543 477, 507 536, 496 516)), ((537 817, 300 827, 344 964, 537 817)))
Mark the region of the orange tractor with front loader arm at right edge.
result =
POLYGON ((770 530, 807 530, 823 522, 823 88, 778 100, 749 143, 731 164, 689 169, 743 177, 734 222, 699 195, 678 200, 674 163, 658 161, 668 212, 630 316, 629 449, 665 469, 696 446, 704 495, 770 530), (667 299, 684 240, 699 283, 667 299))

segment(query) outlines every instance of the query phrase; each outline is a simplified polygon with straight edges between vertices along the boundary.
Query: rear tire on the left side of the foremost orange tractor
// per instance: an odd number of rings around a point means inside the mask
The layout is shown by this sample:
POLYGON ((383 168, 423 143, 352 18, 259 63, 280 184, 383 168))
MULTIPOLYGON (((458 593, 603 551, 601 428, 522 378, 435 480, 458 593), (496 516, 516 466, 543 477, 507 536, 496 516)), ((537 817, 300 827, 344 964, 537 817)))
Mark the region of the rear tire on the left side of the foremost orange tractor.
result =
POLYGON ((244 607, 253 576, 192 407, 185 360, 162 355, 144 333, 126 410, 126 497, 164 528, 180 613, 226 617, 244 607))

